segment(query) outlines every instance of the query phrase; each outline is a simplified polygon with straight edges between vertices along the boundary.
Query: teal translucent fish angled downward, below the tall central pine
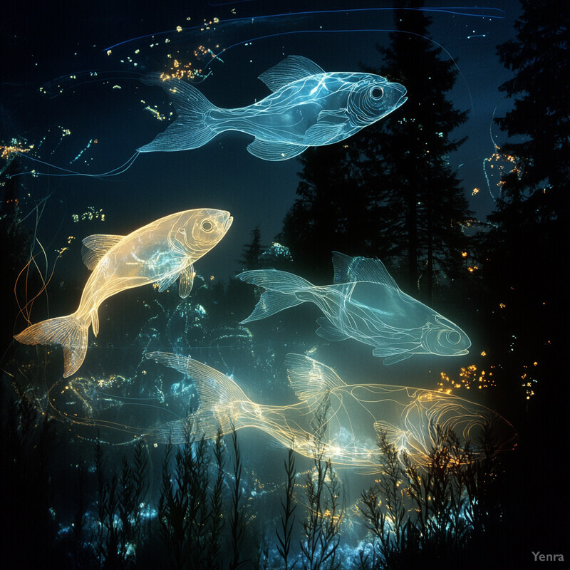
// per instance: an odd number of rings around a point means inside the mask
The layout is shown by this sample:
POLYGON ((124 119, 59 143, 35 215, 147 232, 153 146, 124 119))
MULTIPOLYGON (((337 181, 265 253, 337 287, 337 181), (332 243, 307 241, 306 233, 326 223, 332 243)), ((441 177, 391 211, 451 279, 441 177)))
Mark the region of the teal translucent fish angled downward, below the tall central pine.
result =
POLYGON ((333 252, 334 285, 317 287, 286 271, 244 271, 239 279, 263 289, 252 314, 257 321, 301 303, 316 304, 318 336, 354 338, 373 346, 373 355, 393 364, 414 354, 460 356, 471 346, 455 323, 400 290, 382 261, 333 252))

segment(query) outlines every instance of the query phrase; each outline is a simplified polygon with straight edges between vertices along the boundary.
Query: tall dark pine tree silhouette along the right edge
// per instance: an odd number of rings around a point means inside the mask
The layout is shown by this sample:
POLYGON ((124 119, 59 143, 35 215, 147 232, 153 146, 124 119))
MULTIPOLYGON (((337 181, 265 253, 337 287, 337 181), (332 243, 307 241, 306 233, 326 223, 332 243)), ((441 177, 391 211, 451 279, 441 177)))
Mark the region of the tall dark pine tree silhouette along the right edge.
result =
MULTIPOLYGON (((497 337, 497 386, 519 427, 520 453, 512 472, 512 521, 556 504, 532 528, 522 525, 521 544, 561 544, 566 539, 568 499, 559 489, 564 470, 549 470, 541 457, 556 457, 567 415, 566 346, 570 179, 570 5, 559 0, 521 0, 517 36, 497 46, 514 77, 501 86, 514 107, 497 122, 509 142, 499 149, 514 161, 502 179, 492 231, 485 240, 484 283, 491 286, 492 326, 497 337), (518 408, 518 410, 517 410, 518 408), (519 417, 514 412, 519 411, 519 417), (517 477, 517 472, 522 473, 517 477), (531 483, 532 482, 532 483, 531 483), (541 489, 540 493, 529 492, 541 489)), ((505 521, 507 527, 511 525, 505 521)))

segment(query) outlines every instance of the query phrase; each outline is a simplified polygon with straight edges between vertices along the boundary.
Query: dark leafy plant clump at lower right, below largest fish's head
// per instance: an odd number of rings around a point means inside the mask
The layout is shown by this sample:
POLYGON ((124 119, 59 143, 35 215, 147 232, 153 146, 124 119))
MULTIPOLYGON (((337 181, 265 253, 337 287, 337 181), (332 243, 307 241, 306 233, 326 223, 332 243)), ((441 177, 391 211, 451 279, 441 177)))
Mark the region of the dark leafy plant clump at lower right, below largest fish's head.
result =
POLYGON ((478 462, 470 459, 472 442, 460 442, 449 428, 436 431, 425 470, 390 443, 386 432, 378 434, 380 477, 357 504, 374 537, 368 560, 361 554, 361 567, 403 570, 426 557, 452 564, 487 526, 492 507, 484 496, 499 470, 492 428, 484 432, 485 457, 478 462))

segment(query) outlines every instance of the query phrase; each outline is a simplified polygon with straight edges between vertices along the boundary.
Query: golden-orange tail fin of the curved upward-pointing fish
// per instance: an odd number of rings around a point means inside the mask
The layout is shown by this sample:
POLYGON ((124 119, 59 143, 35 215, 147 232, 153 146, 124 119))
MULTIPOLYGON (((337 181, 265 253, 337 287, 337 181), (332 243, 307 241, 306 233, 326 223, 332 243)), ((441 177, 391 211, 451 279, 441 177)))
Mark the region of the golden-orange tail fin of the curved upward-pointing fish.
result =
POLYGON ((63 348, 63 378, 76 373, 87 353, 89 324, 75 314, 49 318, 14 336, 22 344, 58 344, 63 348))

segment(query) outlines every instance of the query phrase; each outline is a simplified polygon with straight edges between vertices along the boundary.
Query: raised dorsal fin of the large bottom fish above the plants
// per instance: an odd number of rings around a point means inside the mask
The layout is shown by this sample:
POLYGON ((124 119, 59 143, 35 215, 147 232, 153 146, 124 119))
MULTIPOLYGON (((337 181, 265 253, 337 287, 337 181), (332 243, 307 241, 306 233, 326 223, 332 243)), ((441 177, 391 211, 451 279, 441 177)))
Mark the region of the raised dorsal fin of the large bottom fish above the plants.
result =
POLYGON ((288 354, 285 357, 289 384, 295 390, 299 400, 316 409, 321 398, 334 388, 346 386, 332 368, 314 361, 302 354, 288 354))

